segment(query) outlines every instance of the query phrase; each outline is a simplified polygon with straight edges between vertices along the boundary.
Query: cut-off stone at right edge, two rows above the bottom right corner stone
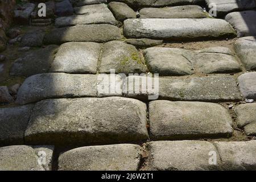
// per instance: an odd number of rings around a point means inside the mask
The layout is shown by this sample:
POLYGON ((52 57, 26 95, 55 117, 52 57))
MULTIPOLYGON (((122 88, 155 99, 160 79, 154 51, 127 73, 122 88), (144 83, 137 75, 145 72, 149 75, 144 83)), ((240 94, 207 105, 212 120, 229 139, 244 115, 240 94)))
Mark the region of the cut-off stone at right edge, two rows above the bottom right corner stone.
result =
POLYGON ((238 127, 244 127, 247 135, 256 135, 256 103, 242 104, 235 108, 238 127))

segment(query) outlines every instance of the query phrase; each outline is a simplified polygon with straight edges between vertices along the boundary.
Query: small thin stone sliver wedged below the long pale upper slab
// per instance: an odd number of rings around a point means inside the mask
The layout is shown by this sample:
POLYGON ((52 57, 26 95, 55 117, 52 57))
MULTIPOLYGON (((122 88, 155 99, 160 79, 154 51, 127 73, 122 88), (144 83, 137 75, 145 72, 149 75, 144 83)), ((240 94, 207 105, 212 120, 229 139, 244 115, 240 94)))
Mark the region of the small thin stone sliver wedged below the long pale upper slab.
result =
POLYGON ((126 39, 125 42, 137 48, 154 47, 163 44, 163 40, 153 39, 126 39))

